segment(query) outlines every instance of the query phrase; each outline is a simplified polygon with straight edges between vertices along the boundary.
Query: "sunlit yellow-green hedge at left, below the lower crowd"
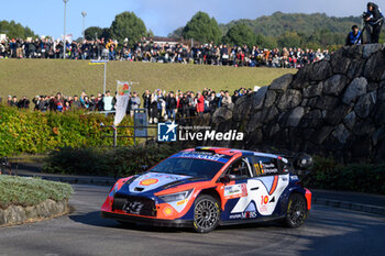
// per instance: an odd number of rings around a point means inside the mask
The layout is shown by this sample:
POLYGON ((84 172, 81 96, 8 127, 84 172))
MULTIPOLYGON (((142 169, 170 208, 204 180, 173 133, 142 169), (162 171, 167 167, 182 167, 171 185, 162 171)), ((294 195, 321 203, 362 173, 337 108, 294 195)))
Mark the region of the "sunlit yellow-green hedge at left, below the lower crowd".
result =
MULTIPOLYGON (((112 140, 101 138, 106 129, 100 123, 111 125, 112 115, 105 118, 81 111, 42 113, 0 105, 0 156, 111 144, 112 140)), ((122 125, 132 125, 132 120, 125 118, 122 125)), ((132 130, 125 129, 123 133, 131 135, 132 130)), ((119 145, 132 145, 132 138, 119 140, 119 145)))

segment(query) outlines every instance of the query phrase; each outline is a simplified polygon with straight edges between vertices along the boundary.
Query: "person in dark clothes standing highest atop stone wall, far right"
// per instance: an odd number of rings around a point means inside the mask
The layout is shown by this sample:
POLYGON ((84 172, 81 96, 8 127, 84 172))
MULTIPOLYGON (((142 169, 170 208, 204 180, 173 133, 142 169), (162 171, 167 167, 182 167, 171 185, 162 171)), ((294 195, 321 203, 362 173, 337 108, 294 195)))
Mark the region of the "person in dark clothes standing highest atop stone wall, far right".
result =
POLYGON ((366 7, 364 30, 369 38, 367 43, 376 44, 378 43, 381 29, 384 24, 384 15, 381 13, 378 5, 374 2, 369 2, 366 7))

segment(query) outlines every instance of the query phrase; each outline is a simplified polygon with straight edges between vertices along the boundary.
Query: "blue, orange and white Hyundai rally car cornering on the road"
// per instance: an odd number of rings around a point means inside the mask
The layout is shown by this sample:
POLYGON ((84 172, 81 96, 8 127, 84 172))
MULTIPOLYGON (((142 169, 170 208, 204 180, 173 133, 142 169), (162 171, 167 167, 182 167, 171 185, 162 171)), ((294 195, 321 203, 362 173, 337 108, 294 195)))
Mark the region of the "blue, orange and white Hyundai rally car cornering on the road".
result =
POLYGON ((101 215, 119 222, 191 226, 206 233, 219 224, 270 220, 298 227, 310 208, 311 192, 302 188, 286 158, 197 147, 144 174, 118 180, 101 215))

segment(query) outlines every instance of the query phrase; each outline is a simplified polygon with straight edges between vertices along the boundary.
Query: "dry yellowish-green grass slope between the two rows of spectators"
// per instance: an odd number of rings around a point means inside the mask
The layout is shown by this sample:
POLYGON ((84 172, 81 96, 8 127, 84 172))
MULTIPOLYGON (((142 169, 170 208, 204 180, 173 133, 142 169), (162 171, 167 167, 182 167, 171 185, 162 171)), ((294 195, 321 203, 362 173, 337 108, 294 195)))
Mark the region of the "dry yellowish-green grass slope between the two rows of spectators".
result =
MULTIPOLYGON (((90 66, 88 60, 1 59, 0 97, 8 94, 30 99, 36 94, 61 91, 66 96, 102 92, 103 66, 90 66)), ((140 82, 133 90, 193 90, 204 88, 234 90, 240 87, 270 85, 275 78, 295 69, 235 68, 228 66, 110 62, 107 65, 107 89, 116 91, 117 80, 140 82)), ((33 105, 33 104, 32 104, 33 105)))

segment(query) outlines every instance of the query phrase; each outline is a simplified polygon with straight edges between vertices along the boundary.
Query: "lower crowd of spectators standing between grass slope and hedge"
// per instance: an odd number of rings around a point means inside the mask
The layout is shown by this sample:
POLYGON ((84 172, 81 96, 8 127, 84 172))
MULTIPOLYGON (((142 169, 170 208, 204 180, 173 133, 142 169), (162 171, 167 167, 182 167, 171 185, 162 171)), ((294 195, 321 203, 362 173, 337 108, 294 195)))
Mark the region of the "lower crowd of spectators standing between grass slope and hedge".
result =
MULTIPOLYGON (((221 90, 216 92, 207 88, 196 93, 180 90, 166 92, 157 89, 153 92, 145 90, 142 97, 133 91, 130 93, 127 114, 133 116, 135 109, 143 108, 147 109, 150 123, 167 120, 189 121, 194 118, 201 118, 204 113, 213 113, 216 109, 231 104, 238 98, 252 91, 251 88, 240 88, 230 96, 229 91, 221 90)), ((7 103, 19 109, 30 109, 31 101, 26 97, 18 100, 15 96, 9 96, 7 103)), ((109 113, 116 110, 117 98, 116 96, 112 97, 110 91, 107 91, 106 94, 98 93, 97 96, 88 96, 82 91, 80 96, 74 97, 66 97, 57 92, 56 96, 36 96, 32 99, 32 103, 34 104, 33 110, 41 112, 65 112, 84 109, 109 113)))

